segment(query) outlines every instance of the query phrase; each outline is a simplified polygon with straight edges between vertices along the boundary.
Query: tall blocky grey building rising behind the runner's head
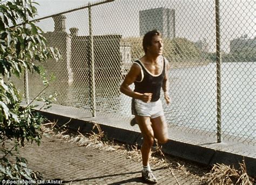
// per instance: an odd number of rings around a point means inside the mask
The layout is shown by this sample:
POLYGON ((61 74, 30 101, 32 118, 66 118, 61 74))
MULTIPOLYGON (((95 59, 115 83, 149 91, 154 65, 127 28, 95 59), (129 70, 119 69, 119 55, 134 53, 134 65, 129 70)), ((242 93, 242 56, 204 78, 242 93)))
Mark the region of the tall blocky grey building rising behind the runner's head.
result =
POLYGON ((175 10, 156 8, 139 11, 139 34, 159 30, 163 37, 175 38, 175 10))

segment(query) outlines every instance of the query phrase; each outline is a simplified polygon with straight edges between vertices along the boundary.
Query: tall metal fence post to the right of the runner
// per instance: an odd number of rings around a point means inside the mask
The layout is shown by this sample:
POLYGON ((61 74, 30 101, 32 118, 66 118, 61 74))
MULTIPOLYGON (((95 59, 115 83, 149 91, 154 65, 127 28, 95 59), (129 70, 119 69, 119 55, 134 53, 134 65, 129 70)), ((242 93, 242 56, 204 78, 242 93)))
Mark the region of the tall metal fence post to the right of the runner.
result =
POLYGON ((217 68, 217 142, 221 143, 221 48, 219 0, 215 0, 216 68, 217 68))

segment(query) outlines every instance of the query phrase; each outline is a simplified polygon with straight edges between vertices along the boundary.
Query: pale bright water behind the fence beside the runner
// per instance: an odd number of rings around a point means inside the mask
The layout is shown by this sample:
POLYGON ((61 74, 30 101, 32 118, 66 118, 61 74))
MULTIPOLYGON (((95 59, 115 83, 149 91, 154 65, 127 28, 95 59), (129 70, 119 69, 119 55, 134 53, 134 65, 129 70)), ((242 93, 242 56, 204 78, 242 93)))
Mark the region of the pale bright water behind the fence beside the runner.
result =
MULTIPOLYGON (((172 102, 170 105, 164 103, 167 122, 216 132, 215 63, 170 69, 169 79, 172 102)), ((121 113, 129 115, 130 98, 124 95, 120 97, 124 103, 121 113)), ((221 65, 221 125, 223 133, 256 137, 255 62, 230 62, 221 65)))

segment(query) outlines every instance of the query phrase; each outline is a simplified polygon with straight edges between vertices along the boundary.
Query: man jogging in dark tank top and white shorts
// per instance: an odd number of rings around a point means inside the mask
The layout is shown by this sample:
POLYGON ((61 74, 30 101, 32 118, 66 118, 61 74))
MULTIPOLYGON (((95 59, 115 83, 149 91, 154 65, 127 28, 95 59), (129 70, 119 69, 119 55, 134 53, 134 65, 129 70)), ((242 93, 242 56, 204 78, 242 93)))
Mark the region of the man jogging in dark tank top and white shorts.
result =
POLYGON ((132 114, 135 116, 143 135, 142 144, 142 177, 147 183, 157 183, 149 165, 151 147, 154 138, 164 144, 168 140, 167 124, 160 100, 160 90, 164 91, 167 104, 170 103, 168 61, 162 56, 163 39, 160 32, 147 32, 143 38, 145 55, 133 62, 125 76, 120 91, 132 97, 132 114), (134 83, 134 91, 129 87, 134 83))

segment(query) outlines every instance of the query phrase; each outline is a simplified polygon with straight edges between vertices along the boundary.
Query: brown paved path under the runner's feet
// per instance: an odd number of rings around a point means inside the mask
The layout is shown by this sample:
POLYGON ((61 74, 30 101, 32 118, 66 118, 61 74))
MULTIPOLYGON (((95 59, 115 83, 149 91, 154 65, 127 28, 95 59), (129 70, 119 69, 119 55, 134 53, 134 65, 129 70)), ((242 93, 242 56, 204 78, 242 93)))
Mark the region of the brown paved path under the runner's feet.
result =
MULTIPOLYGON (((123 149, 124 150, 124 149, 123 149)), ((20 151, 28 167, 47 180, 62 184, 143 184, 142 163, 129 154, 79 146, 56 136, 42 138, 41 146, 27 144, 20 151)), ((184 166, 170 169, 163 164, 151 165, 158 184, 200 184, 198 175, 184 166)))

